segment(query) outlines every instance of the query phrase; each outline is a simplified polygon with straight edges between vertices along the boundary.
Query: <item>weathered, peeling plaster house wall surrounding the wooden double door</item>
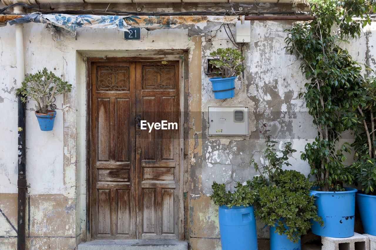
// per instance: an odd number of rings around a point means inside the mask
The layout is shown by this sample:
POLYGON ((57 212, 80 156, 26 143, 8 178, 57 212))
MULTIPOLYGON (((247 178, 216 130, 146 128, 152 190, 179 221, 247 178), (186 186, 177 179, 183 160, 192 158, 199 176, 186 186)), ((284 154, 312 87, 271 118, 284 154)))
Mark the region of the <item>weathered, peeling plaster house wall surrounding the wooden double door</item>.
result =
MULTIPOLYGON (((209 77, 205 74, 209 53, 218 47, 232 47, 218 24, 142 29, 142 39, 138 43, 124 41, 122 32, 103 29, 80 29, 77 40, 64 38, 56 42, 44 25, 25 24, 26 72, 48 66, 64 80, 73 83, 73 91, 56 100, 58 115, 51 132, 39 130, 33 114, 35 107, 32 103, 27 104, 27 182, 30 185, 30 212, 27 216, 30 216, 31 226, 27 240, 30 249, 51 246, 73 249, 76 238, 79 241, 85 234, 86 110, 85 86, 82 85, 85 84, 82 72, 85 70, 82 60, 85 51, 94 51, 94 54, 102 51, 109 56, 126 49, 189 51, 186 94, 190 121, 184 190, 186 238, 192 249, 220 249, 217 208, 208 197, 211 184, 214 180, 224 182, 231 189, 236 181, 244 182, 255 175, 249 161, 251 158, 259 163, 262 161, 264 143, 258 133, 261 122, 268 124, 277 141, 293 142, 297 153, 290 158, 293 164, 290 168, 307 175, 309 167, 300 160, 299 152, 306 142, 314 139, 315 130, 305 104, 297 97, 305 83, 299 62, 284 49, 286 34, 283 30, 291 24, 288 21, 252 21, 252 41, 243 47, 246 57, 244 77, 239 77, 236 82, 235 97, 224 101, 213 98, 209 77), (200 70, 201 74, 196 74, 200 70), (249 106, 250 136, 208 137, 206 111, 209 105, 249 106)), ((234 31, 233 26, 230 27, 234 31)), ((367 62, 371 68, 376 66, 374 30, 373 24, 366 29, 365 35, 348 45, 355 59, 367 62)), ((0 32, 0 111, 5 114, 5 119, 0 120, 0 129, 4 131, 2 139, 6 142, 0 143, 0 208, 17 226, 17 151, 13 150, 17 147, 14 27, 2 27, 0 32)), ((13 249, 16 234, 3 217, 0 218, 0 235, 10 237, 0 241, 0 248, 13 249)), ((268 230, 260 223, 258 236, 259 243, 268 238, 268 230)))

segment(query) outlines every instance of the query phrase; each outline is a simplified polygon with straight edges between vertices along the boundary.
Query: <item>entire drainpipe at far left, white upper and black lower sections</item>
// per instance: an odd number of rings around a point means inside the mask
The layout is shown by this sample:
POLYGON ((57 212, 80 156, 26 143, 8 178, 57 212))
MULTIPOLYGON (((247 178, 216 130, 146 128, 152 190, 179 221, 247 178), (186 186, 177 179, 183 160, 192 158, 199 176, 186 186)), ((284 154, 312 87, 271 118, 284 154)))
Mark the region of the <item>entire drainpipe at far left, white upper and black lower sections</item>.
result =
MULTIPOLYGON (((22 13, 21 6, 14 6, 13 12, 22 13)), ((25 77, 25 59, 23 45, 23 24, 15 24, 16 35, 16 58, 17 58, 17 87, 25 77)), ((21 95, 17 96, 18 100, 18 206, 17 206, 17 250, 25 250, 26 243, 26 139, 25 139, 25 104, 21 101, 21 95)))

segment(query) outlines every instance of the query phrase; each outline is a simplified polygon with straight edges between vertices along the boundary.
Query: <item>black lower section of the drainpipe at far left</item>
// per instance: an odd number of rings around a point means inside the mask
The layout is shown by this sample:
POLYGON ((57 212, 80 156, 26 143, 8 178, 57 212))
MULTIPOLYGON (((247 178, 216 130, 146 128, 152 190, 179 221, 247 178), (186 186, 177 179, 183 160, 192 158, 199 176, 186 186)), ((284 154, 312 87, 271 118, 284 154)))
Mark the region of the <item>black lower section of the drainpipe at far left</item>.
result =
POLYGON ((26 147, 25 147, 25 103, 18 97, 18 211, 17 211, 17 250, 25 250, 26 231, 26 147))

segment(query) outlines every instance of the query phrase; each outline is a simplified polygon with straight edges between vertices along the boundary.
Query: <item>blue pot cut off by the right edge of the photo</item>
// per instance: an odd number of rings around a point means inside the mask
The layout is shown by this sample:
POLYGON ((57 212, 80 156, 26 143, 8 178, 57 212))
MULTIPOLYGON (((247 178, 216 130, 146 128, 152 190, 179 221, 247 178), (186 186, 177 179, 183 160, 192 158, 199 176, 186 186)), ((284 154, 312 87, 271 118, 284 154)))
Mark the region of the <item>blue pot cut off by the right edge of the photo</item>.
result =
POLYGON ((356 203, 364 232, 376 236, 376 196, 358 192, 356 193, 356 203))

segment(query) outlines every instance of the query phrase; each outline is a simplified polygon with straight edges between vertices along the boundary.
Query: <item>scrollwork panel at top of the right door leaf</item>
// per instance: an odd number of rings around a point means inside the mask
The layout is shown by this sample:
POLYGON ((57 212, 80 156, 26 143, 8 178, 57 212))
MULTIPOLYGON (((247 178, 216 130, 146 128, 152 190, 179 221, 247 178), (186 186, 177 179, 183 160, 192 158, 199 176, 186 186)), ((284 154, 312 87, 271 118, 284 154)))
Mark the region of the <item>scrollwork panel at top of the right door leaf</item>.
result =
POLYGON ((143 89, 175 89, 174 65, 143 65, 143 89))

